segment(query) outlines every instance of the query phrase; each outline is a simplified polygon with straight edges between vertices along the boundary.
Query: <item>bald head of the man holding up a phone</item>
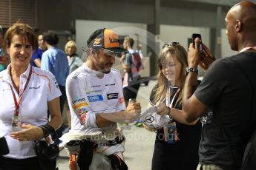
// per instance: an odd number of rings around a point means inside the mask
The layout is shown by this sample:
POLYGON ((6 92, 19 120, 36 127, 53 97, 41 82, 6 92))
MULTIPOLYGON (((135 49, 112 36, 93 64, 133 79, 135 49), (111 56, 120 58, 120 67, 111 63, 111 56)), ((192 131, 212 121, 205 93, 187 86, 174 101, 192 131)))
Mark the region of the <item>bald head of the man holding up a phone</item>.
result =
POLYGON ((241 1, 226 15, 226 35, 232 50, 256 46, 256 4, 241 1))

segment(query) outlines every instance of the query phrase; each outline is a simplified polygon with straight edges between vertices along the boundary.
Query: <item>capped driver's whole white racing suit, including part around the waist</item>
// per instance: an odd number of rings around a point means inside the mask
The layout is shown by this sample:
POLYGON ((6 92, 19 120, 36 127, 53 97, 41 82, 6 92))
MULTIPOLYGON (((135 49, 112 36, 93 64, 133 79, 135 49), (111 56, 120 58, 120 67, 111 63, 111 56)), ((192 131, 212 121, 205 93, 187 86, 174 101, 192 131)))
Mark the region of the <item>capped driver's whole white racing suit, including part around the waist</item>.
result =
POLYGON ((125 140, 122 135, 118 140, 104 137, 106 133, 115 132, 117 126, 99 128, 96 125, 96 113, 108 114, 125 110, 121 75, 116 69, 111 69, 108 74, 102 74, 83 64, 68 76, 66 92, 70 107, 71 129, 68 133, 69 137, 64 135, 62 140, 68 152, 81 154, 85 152, 81 150, 82 148, 88 149, 88 146, 91 146, 93 150, 89 152, 92 152, 93 157, 89 169, 113 169, 111 157, 119 155, 123 159, 125 140), (68 143, 70 144, 71 140, 76 141, 71 143, 79 144, 70 147, 68 143), (112 140, 117 142, 108 143, 112 140))

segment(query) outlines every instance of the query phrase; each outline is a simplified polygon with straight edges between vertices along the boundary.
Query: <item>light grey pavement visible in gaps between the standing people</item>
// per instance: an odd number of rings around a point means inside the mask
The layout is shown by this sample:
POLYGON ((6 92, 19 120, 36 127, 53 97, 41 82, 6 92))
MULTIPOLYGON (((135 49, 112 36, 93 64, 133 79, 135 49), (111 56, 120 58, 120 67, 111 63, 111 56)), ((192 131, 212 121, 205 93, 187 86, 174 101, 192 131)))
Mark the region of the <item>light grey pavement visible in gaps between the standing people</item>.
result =
MULTIPOLYGON (((148 86, 142 84, 137 95, 137 101, 140 101, 142 112, 148 106, 148 98, 153 86, 157 81, 149 81, 148 86)), ((150 170, 151 160, 154 151, 154 139, 156 134, 148 132, 142 127, 131 125, 131 130, 123 130, 125 134, 125 163, 129 170, 150 170)), ((68 170, 68 156, 65 149, 60 152, 57 159, 59 170, 68 170)))

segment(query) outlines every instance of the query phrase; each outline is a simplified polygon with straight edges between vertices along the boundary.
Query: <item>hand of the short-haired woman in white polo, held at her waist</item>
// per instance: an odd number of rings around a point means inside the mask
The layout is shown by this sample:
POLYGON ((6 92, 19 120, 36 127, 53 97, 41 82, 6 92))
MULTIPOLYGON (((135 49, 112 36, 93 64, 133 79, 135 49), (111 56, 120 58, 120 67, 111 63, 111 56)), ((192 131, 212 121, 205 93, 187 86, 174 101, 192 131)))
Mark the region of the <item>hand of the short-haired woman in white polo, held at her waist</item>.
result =
POLYGON ((35 140, 43 137, 43 131, 40 127, 30 124, 22 124, 21 128, 22 130, 19 132, 12 132, 10 137, 19 141, 35 140))

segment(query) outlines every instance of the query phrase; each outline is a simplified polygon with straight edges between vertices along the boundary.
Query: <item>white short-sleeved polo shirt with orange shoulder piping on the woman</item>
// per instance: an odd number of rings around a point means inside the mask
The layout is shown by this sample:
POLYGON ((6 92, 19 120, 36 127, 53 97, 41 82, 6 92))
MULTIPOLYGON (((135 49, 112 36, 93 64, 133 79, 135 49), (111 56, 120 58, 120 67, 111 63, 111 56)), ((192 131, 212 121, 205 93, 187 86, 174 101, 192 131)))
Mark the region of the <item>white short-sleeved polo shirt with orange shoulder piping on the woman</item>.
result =
MULTIPOLYGON (((30 72, 30 65, 20 76, 19 90, 22 92, 30 72)), ((19 142, 10 137, 12 131, 12 117, 16 106, 13 93, 10 89, 13 83, 10 78, 10 65, 0 72, 0 132, 5 133, 5 138, 10 149, 10 153, 4 157, 24 159, 36 156, 33 150, 33 141, 19 142)), ((17 101, 19 94, 13 87, 17 101)), ((32 74, 27 89, 22 96, 19 105, 19 116, 22 123, 39 126, 47 123, 47 101, 58 98, 62 93, 56 83, 54 75, 48 71, 32 67, 32 74)))

